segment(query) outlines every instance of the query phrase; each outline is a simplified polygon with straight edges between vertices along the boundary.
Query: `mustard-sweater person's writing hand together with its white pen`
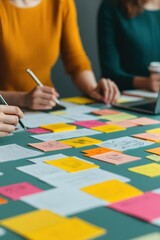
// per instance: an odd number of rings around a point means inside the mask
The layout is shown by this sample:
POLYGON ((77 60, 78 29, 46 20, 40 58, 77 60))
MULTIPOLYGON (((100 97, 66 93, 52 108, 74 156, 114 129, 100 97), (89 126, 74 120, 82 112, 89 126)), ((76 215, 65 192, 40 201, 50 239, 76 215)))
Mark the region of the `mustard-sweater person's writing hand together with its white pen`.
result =
POLYGON ((37 87, 28 93, 29 103, 27 105, 29 105, 30 108, 34 110, 49 110, 56 104, 60 105, 60 102, 57 99, 59 94, 54 88, 44 86, 30 69, 27 69, 26 72, 37 84, 37 87))

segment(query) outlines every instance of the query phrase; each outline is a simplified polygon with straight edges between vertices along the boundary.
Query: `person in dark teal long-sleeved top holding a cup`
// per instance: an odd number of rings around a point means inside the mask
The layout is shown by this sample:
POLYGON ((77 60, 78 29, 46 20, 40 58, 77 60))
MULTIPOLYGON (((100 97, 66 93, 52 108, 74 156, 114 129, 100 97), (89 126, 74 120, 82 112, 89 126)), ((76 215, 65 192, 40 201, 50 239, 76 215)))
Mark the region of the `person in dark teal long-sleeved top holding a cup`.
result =
POLYGON ((160 0, 103 0, 98 13, 98 45, 103 77, 119 89, 159 90, 160 0))

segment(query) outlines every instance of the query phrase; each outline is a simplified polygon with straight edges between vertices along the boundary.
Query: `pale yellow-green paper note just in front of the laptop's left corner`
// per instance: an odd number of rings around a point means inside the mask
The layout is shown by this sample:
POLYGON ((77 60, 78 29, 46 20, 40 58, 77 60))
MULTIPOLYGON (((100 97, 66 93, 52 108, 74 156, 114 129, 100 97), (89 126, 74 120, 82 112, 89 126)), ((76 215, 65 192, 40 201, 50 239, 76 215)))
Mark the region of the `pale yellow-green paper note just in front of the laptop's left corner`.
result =
POLYGON ((136 115, 121 112, 118 114, 104 115, 104 116, 101 116, 100 118, 106 119, 109 121, 123 121, 123 120, 132 119, 132 118, 136 118, 136 117, 137 117, 136 115))

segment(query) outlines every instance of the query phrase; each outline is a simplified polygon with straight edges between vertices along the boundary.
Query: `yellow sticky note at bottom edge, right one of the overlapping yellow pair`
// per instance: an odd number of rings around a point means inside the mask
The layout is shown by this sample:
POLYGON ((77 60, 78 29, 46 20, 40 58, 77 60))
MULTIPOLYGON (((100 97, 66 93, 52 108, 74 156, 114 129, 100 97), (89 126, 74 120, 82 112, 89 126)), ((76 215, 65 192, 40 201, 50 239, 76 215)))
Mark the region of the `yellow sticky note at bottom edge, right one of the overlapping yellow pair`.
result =
POLYGON ((99 237, 106 233, 106 230, 90 224, 79 218, 56 224, 46 229, 34 232, 30 235, 32 240, 85 240, 99 237))

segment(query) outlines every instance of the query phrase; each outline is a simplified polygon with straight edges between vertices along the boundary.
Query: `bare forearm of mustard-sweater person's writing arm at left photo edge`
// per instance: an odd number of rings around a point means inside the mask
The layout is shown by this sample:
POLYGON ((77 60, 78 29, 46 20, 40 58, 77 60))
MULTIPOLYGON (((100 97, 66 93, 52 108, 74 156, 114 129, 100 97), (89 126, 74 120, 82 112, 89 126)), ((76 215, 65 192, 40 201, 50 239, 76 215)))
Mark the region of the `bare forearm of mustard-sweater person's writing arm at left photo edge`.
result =
POLYGON ((0 91, 0 94, 4 97, 4 99, 9 105, 26 107, 26 92, 0 91))

